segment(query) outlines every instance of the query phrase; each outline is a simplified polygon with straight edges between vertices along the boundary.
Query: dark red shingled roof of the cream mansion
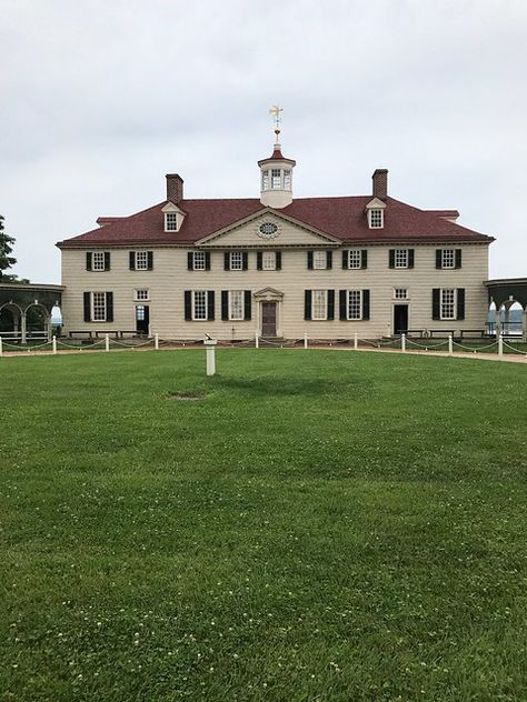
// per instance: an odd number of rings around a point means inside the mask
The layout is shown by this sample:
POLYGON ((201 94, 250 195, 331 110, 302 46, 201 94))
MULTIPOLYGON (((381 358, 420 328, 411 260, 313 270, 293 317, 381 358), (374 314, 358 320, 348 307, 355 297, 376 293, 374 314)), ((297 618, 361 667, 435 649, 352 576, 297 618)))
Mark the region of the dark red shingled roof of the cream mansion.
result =
MULTIPOLYGON (((366 204, 372 195, 346 198, 304 198, 291 204, 274 210, 301 224, 330 234, 344 243, 390 242, 485 242, 493 237, 460 227, 445 218, 446 210, 426 211, 386 198, 385 225, 369 229, 366 204)), ((123 218, 100 218, 105 227, 97 228, 72 239, 60 241, 60 248, 86 248, 89 245, 137 245, 148 244, 192 244, 221 229, 235 224, 266 208, 259 199, 182 200, 179 203, 187 214, 178 232, 165 231, 162 208, 167 201, 148 210, 123 218), (106 223, 108 222, 108 223, 106 223)), ((448 210, 448 212, 451 212, 448 210)))

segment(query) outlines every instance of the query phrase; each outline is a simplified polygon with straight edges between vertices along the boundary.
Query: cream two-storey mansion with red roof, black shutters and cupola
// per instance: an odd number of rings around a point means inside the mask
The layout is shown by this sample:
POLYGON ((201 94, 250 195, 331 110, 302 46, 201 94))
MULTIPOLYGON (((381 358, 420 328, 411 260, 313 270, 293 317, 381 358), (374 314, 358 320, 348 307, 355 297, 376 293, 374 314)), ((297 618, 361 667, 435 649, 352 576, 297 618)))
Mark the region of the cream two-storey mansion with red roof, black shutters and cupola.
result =
POLYGON ((367 195, 294 198, 295 161, 258 162, 260 197, 167 197, 57 245, 66 332, 165 339, 378 338, 407 330, 485 329, 488 245, 455 210, 388 195, 376 170, 367 195))

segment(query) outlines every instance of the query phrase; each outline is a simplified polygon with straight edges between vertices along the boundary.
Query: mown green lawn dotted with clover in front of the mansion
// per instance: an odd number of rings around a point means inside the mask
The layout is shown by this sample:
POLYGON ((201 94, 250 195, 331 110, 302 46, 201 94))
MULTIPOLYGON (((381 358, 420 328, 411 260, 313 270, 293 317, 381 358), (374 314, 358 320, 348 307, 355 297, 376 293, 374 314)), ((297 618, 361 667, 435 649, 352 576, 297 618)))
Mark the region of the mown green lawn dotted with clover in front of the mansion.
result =
POLYGON ((218 370, 0 359, 0 700, 525 701, 525 365, 218 370))

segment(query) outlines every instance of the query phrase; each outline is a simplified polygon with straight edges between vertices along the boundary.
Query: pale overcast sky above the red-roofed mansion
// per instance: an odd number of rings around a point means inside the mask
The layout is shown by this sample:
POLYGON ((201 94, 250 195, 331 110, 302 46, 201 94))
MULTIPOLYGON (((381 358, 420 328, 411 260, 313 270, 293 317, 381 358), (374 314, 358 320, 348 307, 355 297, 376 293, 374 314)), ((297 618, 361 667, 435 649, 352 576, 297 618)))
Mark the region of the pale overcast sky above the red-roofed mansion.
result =
POLYGON ((389 194, 527 277, 525 0, 0 0, 0 213, 14 271, 165 199, 259 197, 280 104, 295 195, 389 194))

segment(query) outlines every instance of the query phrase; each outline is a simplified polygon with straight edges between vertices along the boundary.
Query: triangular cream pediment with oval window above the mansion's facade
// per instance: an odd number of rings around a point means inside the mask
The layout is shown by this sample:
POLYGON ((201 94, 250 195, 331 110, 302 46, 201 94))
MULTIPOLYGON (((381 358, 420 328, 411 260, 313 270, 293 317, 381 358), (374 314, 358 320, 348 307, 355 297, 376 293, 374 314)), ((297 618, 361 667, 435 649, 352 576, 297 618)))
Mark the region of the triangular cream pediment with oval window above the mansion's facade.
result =
POLYGON ((336 237, 318 231, 271 208, 246 217, 229 227, 203 237, 200 247, 284 248, 339 245, 336 237))

